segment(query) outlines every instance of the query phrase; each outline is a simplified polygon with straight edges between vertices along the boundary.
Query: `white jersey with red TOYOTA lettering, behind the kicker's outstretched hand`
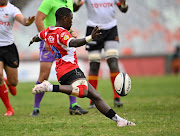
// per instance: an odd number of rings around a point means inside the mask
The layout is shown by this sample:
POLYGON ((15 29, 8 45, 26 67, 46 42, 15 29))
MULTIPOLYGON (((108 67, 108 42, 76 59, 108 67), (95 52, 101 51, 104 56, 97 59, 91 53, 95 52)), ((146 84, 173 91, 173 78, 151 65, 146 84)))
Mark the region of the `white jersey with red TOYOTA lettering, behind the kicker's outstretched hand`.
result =
POLYGON ((119 0, 82 0, 85 3, 88 14, 88 26, 99 26, 108 30, 117 25, 115 18, 115 5, 119 0))

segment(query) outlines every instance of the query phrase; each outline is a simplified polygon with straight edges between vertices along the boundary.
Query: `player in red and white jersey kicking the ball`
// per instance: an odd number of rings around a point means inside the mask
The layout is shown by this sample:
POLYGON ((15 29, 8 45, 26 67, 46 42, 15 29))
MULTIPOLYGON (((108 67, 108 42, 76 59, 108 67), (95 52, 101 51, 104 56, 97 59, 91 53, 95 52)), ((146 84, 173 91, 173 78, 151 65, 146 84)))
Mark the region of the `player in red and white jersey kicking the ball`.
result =
POLYGON ((90 98, 97 109, 106 117, 117 122, 118 127, 135 126, 135 123, 127 121, 118 116, 101 98, 94 87, 86 80, 84 73, 78 66, 76 57, 76 47, 89 43, 100 35, 99 28, 95 27, 92 33, 86 38, 72 38, 68 30, 72 26, 73 14, 68 8, 59 8, 56 11, 56 25, 48 27, 34 36, 29 46, 33 42, 45 40, 49 45, 56 60, 56 75, 61 85, 52 85, 48 81, 36 85, 33 94, 44 92, 61 92, 79 98, 90 98))

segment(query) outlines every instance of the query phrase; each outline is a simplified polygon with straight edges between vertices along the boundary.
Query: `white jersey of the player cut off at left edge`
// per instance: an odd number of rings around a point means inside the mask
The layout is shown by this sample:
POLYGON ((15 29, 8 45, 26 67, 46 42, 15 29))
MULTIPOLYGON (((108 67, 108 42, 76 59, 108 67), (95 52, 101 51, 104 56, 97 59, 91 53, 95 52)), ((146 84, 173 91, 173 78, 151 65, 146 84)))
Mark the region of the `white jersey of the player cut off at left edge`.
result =
POLYGON ((12 27, 18 14, 21 11, 9 2, 6 6, 0 6, 0 47, 14 42, 12 27))

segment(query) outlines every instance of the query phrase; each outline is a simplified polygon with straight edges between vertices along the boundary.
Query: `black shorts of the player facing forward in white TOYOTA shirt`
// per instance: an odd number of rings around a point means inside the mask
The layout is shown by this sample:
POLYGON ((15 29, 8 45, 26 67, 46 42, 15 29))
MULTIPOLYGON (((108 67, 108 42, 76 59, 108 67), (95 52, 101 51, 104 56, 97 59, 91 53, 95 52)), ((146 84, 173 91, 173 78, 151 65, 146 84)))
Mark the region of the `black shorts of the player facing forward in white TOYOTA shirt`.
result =
MULTIPOLYGON (((91 35, 91 32, 94 28, 88 26, 86 30, 86 36, 91 35)), ((86 44, 86 50, 92 51, 92 50, 101 50, 104 48, 104 42, 105 41, 118 41, 118 31, 117 26, 109 29, 109 30, 100 30, 102 33, 101 35, 97 36, 97 38, 90 43, 86 44)))

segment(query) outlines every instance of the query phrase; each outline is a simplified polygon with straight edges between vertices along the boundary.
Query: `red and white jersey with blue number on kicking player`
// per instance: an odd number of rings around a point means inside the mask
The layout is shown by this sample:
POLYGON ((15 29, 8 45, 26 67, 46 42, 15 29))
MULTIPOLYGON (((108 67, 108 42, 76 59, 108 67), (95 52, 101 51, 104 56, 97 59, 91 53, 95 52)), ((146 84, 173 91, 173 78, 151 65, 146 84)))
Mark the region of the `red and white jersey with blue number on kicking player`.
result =
POLYGON ((50 26, 39 33, 39 38, 47 42, 55 57, 58 80, 69 71, 79 68, 76 48, 69 47, 69 42, 73 38, 67 29, 50 26))

